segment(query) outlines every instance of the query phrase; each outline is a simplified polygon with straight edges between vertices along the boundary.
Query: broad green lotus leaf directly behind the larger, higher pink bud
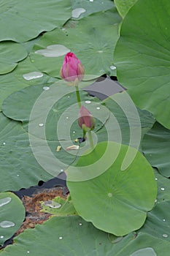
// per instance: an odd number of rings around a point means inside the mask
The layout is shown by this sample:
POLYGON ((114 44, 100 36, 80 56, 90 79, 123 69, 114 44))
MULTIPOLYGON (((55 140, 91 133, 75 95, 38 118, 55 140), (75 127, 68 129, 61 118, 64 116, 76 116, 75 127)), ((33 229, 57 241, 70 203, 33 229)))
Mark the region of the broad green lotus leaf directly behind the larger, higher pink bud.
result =
POLYGON ((113 8, 83 18, 71 28, 47 32, 34 45, 31 60, 42 72, 60 77, 63 56, 72 51, 85 66, 86 75, 115 75, 112 55, 118 39, 117 23, 120 16, 113 8))

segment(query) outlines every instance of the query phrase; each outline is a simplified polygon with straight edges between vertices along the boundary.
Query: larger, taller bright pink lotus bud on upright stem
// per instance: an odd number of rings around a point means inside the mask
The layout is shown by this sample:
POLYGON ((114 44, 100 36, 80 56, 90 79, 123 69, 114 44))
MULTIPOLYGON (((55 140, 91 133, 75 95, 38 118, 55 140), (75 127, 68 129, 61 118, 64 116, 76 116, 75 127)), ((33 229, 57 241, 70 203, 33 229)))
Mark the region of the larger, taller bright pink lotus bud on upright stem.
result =
POLYGON ((77 59, 74 53, 66 53, 60 75, 61 78, 68 82, 82 80, 85 75, 85 68, 82 66, 80 59, 77 59))

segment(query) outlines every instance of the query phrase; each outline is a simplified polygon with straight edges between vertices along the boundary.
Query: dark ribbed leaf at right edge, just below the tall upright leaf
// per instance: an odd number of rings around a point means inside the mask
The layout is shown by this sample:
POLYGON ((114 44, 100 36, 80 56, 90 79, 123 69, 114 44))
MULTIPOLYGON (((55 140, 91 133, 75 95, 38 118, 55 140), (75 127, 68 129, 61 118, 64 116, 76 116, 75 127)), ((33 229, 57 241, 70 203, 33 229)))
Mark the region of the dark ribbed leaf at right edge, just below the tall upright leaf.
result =
POLYGON ((142 149, 150 165, 157 167, 163 176, 170 177, 170 130, 155 123, 144 135, 142 149))

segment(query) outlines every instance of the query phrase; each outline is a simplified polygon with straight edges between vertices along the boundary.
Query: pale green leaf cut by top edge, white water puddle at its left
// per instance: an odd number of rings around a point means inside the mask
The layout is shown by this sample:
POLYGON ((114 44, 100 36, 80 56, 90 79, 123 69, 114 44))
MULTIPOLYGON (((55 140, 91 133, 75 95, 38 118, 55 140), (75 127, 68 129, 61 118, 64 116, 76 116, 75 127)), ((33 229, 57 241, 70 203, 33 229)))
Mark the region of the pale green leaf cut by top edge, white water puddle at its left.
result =
POLYGON ((83 18, 94 12, 101 12, 115 7, 114 3, 110 0, 86 1, 72 0, 72 10, 74 10, 74 17, 83 18), (77 17, 78 16, 78 17, 77 17))

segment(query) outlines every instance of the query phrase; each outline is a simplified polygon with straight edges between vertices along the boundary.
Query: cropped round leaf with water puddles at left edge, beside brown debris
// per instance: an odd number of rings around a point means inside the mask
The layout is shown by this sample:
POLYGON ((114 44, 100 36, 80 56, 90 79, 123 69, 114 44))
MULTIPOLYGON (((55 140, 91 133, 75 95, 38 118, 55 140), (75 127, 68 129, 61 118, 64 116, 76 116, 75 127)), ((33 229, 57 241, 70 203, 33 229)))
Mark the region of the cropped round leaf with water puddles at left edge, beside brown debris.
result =
POLYGON ((0 246, 20 228, 25 219, 25 208, 12 192, 0 192, 0 246))

